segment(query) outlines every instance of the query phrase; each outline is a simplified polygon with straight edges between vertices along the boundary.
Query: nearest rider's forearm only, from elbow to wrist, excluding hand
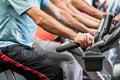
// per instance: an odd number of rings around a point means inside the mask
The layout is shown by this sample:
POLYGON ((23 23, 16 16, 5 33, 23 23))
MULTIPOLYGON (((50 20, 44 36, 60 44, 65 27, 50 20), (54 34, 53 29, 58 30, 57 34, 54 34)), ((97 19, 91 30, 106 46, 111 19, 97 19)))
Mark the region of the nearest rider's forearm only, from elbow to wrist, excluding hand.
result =
POLYGON ((73 37, 76 35, 72 29, 68 28, 65 25, 62 25, 61 23, 59 23, 53 18, 48 18, 48 20, 44 20, 42 23, 38 25, 50 33, 53 33, 62 37, 66 37, 68 39, 73 40, 73 37))

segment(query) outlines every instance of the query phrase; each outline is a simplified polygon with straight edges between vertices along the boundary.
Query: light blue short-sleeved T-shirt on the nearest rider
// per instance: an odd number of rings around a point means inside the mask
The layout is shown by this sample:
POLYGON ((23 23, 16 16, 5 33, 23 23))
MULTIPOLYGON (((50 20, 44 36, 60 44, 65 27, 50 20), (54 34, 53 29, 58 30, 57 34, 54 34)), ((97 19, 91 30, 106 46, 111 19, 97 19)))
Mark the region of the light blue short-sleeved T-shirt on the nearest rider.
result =
POLYGON ((38 6, 44 9, 49 0, 0 0, 0 49, 12 44, 31 46, 36 24, 24 12, 38 6))

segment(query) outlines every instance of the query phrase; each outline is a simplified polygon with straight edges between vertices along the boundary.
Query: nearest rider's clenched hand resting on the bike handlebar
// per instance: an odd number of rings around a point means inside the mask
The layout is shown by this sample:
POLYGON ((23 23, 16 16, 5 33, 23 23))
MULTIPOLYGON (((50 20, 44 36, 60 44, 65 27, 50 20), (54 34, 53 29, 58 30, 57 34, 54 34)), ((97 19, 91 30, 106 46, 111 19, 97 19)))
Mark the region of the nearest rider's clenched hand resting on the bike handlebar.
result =
POLYGON ((94 38, 91 34, 89 33, 78 33, 75 38, 74 41, 77 43, 80 43, 82 48, 86 48, 88 46, 92 46, 94 43, 94 38))

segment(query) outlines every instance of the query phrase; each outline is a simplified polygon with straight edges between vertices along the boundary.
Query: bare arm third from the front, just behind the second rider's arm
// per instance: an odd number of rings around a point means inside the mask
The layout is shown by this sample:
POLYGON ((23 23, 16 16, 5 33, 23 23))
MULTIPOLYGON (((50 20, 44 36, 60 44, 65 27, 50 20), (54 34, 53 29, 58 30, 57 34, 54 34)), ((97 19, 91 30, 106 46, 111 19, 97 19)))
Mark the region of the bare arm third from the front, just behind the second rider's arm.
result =
POLYGON ((61 8, 62 10, 68 12, 73 16, 76 20, 78 20, 81 24, 84 24, 86 27, 90 28, 98 28, 99 22, 97 22, 97 19, 94 18, 88 18, 84 14, 82 14, 80 11, 78 11, 74 6, 72 6, 69 2, 66 0, 51 0, 51 2, 57 6, 58 8, 61 8), (83 17, 84 15, 84 17, 83 17))

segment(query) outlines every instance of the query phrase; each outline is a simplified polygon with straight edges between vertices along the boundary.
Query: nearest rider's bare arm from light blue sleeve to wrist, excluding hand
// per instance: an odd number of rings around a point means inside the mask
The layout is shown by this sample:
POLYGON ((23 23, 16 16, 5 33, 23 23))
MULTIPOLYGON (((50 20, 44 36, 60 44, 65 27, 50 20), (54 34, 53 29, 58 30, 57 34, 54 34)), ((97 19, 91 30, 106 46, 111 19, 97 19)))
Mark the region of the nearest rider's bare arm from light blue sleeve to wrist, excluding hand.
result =
POLYGON ((77 35, 77 33, 75 33, 73 30, 62 25, 57 20, 36 7, 26 11, 26 14, 28 14, 37 25, 41 26, 43 29, 50 33, 72 40, 77 35))

